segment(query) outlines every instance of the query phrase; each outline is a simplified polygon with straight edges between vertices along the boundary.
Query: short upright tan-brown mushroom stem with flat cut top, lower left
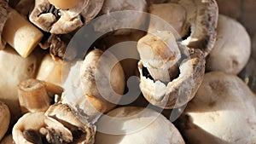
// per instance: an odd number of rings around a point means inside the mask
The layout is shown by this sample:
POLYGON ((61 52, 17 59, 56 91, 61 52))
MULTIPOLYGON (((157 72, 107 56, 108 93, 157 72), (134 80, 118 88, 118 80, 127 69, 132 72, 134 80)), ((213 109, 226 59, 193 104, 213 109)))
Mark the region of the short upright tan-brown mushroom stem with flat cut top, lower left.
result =
POLYGON ((37 79, 27 79, 21 82, 18 96, 22 113, 45 112, 50 105, 46 85, 37 79))

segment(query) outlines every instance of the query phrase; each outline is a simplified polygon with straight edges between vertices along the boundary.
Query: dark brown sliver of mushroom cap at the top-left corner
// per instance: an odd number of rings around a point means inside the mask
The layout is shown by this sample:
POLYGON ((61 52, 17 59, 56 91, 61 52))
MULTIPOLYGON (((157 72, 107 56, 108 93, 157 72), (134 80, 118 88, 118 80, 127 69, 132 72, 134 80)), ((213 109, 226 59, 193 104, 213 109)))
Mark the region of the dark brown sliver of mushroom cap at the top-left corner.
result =
MULTIPOLYGON (((3 27, 5 25, 5 22, 8 18, 8 12, 7 12, 7 8, 8 6, 9 0, 1 0, 0 1, 0 34, 2 35, 3 32, 3 27)), ((2 36, 0 35, 0 49, 4 49, 5 48, 5 44, 6 42, 3 40, 2 36)))

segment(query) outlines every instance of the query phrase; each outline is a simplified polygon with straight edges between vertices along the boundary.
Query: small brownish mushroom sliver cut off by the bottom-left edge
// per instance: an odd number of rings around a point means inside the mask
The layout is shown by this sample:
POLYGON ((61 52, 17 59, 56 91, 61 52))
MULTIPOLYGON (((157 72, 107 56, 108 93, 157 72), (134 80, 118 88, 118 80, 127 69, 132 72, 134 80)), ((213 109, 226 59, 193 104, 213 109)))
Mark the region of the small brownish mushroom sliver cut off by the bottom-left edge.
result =
POLYGON ((0 122, 1 122, 0 141, 1 141, 6 131, 9 128, 9 123, 10 123, 9 107, 6 104, 4 104, 2 101, 0 101, 0 122))

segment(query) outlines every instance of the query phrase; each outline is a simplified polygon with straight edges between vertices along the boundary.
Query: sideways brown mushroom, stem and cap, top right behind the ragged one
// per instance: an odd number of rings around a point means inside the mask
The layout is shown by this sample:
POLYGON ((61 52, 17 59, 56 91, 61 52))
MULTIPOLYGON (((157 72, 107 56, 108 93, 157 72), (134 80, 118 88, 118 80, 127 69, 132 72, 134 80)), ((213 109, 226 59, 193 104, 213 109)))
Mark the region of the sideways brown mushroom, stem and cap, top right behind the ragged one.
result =
MULTIPOLYGON (((185 38, 182 40, 183 45, 201 49, 205 56, 212 50, 216 40, 218 20, 218 5, 215 0, 170 0, 169 3, 151 4, 149 11, 175 28, 185 38)), ((154 17, 151 16, 149 32, 170 31, 166 29, 170 27, 169 25, 154 17)))

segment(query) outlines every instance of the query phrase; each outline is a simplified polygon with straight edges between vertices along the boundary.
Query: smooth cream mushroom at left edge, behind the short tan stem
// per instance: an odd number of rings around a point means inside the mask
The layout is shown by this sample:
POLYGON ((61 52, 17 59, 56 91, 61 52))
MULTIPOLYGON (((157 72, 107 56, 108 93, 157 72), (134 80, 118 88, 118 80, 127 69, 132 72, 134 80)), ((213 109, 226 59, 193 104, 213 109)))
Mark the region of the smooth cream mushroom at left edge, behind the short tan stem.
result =
POLYGON ((7 46, 0 50, 0 64, 0 101, 8 105, 12 121, 15 121, 20 117, 17 85, 27 78, 35 77, 37 58, 35 55, 22 58, 14 49, 7 46))

